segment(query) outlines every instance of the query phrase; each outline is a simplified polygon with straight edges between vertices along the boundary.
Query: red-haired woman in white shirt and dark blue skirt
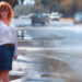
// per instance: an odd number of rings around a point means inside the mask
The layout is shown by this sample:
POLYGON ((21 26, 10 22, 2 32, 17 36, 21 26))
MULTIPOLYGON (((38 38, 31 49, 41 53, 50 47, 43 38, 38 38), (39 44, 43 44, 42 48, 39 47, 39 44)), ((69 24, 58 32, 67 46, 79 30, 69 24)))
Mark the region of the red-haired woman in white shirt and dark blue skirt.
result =
POLYGON ((8 2, 0 2, 0 82, 9 82, 12 60, 17 58, 16 28, 13 11, 8 2))

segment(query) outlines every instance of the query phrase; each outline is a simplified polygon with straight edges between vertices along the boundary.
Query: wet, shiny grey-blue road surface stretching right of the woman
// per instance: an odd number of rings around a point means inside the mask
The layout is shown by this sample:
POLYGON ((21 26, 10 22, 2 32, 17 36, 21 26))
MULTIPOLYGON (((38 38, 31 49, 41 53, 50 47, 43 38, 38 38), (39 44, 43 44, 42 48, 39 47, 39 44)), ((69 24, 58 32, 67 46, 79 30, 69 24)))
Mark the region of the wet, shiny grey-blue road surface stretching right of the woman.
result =
POLYGON ((32 39, 19 42, 21 55, 10 74, 22 78, 15 82, 82 82, 82 44, 73 27, 63 21, 26 27, 32 39))

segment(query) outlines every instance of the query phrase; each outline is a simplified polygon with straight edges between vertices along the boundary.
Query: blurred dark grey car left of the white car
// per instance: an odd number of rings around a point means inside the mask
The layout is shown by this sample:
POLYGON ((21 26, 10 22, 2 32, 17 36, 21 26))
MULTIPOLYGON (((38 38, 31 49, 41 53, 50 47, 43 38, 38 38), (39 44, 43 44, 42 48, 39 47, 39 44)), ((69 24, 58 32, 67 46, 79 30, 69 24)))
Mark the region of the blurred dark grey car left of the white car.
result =
POLYGON ((45 17, 43 14, 36 13, 33 16, 31 16, 31 19, 32 19, 32 25, 35 25, 35 24, 45 25, 45 17))

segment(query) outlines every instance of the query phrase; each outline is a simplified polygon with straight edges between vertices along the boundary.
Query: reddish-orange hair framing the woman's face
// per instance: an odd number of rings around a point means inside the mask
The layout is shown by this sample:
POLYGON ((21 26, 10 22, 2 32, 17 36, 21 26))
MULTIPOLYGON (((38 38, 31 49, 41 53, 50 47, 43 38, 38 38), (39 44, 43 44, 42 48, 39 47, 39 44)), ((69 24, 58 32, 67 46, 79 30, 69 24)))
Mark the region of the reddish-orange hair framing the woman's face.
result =
MULTIPOLYGON (((12 7, 8 3, 8 2, 4 2, 4 1, 1 1, 0 2, 0 10, 2 9, 2 7, 7 7, 8 8, 8 19, 11 21, 12 17, 13 17, 13 10, 12 10, 12 7)), ((0 11, 1 13, 1 11, 0 11)), ((1 14, 0 14, 0 19, 1 19, 1 14)))

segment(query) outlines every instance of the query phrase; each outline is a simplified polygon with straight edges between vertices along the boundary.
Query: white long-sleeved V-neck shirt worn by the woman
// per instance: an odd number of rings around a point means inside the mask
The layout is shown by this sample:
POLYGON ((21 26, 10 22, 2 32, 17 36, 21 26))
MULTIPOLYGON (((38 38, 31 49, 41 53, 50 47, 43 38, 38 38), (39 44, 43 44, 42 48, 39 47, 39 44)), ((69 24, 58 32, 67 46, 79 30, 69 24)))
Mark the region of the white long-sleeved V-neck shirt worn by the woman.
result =
POLYGON ((14 21, 11 21, 9 26, 0 21, 0 45, 14 44, 14 56, 17 56, 17 37, 14 21))

